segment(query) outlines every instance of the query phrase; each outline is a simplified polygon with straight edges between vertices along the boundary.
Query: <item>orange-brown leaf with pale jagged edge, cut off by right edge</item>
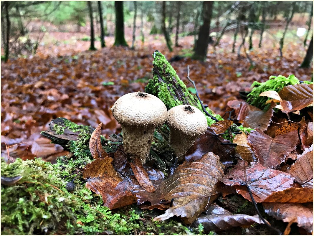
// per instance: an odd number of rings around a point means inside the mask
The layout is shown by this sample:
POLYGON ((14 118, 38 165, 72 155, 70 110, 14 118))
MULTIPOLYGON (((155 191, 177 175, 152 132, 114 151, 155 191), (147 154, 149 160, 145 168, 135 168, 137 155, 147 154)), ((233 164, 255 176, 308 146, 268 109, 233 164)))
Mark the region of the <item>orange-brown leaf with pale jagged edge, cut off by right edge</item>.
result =
POLYGON ((313 145, 297 156, 297 160, 291 166, 289 173, 302 187, 313 188, 313 145))

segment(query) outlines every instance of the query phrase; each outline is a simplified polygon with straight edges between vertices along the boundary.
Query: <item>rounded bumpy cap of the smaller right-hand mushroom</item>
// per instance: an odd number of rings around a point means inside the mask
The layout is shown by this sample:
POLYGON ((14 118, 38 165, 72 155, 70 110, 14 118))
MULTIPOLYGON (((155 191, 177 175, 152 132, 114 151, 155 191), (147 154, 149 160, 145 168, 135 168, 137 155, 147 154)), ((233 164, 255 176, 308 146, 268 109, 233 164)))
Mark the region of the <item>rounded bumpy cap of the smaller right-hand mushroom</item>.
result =
POLYGON ((205 115, 190 105, 172 107, 168 111, 166 123, 171 129, 190 137, 199 137, 207 130, 205 115))

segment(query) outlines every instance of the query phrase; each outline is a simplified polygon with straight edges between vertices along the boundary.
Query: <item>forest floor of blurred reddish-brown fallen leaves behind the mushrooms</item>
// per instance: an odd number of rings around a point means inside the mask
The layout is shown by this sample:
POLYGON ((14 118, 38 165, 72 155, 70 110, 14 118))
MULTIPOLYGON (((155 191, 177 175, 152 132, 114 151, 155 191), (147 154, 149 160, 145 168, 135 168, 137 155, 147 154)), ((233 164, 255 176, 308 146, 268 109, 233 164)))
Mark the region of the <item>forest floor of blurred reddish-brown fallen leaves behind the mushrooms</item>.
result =
MULTIPOLYGON (((40 32, 36 29, 40 25, 40 22, 33 23, 34 33, 30 33, 30 37, 38 37, 40 32)), ((290 26, 287 32, 282 58, 278 48, 283 24, 280 28, 265 31, 261 48, 258 48, 259 32, 254 33, 253 49, 247 51, 256 64, 252 69, 243 49, 240 58, 231 52, 232 32, 223 36, 216 53, 209 45, 208 58, 201 63, 189 58, 193 36, 181 36, 180 47, 169 52, 163 35, 149 35, 146 26, 145 41, 142 43, 137 38, 135 50, 112 47, 114 28, 111 22, 108 23, 111 36, 106 36, 107 47, 100 49, 100 42, 96 41, 98 50, 88 51, 89 41, 82 41, 88 36, 88 27, 77 33, 56 31, 57 28, 49 24, 45 26, 47 31, 35 56, 1 62, 3 155, 9 151, 11 156, 22 156, 23 159, 41 156, 53 160, 62 154, 60 146, 50 144, 50 140, 40 135, 48 128, 51 119, 57 117, 94 128, 102 122, 102 134, 106 137, 120 132, 121 126, 109 108, 120 96, 144 90, 152 78, 151 55, 155 50, 165 54, 168 60, 175 55, 186 56, 171 65, 190 91, 195 92, 186 79, 189 66, 190 77, 195 81, 203 103, 220 115, 224 115, 228 101, 240 98, 239 91, 250 91, 253 81, 263 82, 269 76, 279 74, 294 74, 299 80, 311 80, 312 75, 312 68, 299 68, 306 48, 303 47, 304 37, 296 36, 297 27, 300 27, 297 24, 290 26), (4 144, 19 145, 5 150, 4 144)), ((131 25, 127 25, 125 31, 127 43, 131 45, 131 25)), ((241 40, 239 34, 236 52, 241 40)), ((247 50, 247 43, 245 48, 247 50)))

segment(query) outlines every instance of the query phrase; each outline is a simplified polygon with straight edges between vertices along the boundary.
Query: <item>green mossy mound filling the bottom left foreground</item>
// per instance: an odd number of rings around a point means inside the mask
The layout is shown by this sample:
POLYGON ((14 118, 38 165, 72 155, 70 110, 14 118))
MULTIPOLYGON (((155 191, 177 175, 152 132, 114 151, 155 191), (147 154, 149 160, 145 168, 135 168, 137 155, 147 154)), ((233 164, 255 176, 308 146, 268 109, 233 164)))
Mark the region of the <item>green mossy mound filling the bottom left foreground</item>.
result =
POLYGON ((101 196, 93 194, 79 178, 74 181, 74 191, 68 192, 65 186, 73 177, 62 178, 68 167, 61 159, 57 164, 39 158, 18 158, 11 164, 2 161, 2 176, 22 176, 16 184, 1 186, 3 234, 199 233, 173 219, 154 222, 152 218, 160 212, 142 211, 135 205, 110 211, 101 196))

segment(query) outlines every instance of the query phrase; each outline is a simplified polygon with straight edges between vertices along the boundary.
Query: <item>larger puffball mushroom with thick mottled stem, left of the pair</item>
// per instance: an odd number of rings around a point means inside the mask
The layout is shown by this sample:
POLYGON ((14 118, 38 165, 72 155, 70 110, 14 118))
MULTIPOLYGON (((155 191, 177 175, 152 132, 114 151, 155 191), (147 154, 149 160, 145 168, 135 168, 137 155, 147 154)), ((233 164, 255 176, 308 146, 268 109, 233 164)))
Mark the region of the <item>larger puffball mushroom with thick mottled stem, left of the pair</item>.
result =
POLYGON ((138 157, 145 163, 155 127, 167 118, 165 104, 158 97, 139 91, 120 97, 111 111, 122 126, 124 151, 132 160, 138 157))

